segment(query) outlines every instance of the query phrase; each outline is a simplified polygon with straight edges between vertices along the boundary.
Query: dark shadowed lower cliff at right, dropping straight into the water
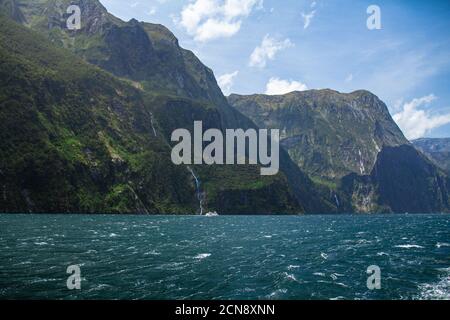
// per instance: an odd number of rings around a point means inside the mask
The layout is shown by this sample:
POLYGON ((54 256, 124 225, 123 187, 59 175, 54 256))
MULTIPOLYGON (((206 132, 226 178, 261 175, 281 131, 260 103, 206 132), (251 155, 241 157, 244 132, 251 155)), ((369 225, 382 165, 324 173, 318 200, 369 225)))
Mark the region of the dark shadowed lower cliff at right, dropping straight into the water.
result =
POLYGON ((341 188, 357 212, 449 211, 450 181, 409 145, 386 147, 370 175, 350 174, 341 188))

